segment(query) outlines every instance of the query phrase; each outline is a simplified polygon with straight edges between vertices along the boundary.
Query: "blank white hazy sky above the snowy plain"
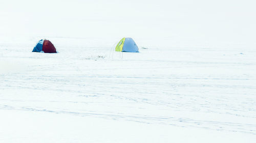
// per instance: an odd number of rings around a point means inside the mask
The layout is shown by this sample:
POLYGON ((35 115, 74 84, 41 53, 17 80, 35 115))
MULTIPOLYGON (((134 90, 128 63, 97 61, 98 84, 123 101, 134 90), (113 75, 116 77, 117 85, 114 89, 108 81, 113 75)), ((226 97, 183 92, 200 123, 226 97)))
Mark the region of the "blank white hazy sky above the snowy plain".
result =
POLYGON ((207 41, 256 45, 255 4, 254 1, 3 1, 0 31, 8 36, 133 37, 161 43, 207 41))

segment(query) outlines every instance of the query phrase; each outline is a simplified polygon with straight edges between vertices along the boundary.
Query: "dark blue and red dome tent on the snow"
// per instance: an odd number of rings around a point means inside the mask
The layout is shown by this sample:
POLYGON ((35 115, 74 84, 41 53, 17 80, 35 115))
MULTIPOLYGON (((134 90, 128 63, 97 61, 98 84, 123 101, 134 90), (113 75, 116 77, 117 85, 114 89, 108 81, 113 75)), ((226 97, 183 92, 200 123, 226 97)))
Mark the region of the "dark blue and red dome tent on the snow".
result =
POLYGON ((40 40, 34 47, 32 52, 56 53, 56 49, 49 40, 40 40))

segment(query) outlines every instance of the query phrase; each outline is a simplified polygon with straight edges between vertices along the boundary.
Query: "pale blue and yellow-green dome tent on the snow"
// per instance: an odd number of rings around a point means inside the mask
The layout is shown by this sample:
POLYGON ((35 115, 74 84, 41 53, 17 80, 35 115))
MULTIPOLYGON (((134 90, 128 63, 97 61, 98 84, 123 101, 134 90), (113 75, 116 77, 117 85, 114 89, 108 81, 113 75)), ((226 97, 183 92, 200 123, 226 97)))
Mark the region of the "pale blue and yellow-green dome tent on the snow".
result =
POLYGON ((132 38, 122 38, 116 45, 116 51, 139 52, 139 48, 132 38))

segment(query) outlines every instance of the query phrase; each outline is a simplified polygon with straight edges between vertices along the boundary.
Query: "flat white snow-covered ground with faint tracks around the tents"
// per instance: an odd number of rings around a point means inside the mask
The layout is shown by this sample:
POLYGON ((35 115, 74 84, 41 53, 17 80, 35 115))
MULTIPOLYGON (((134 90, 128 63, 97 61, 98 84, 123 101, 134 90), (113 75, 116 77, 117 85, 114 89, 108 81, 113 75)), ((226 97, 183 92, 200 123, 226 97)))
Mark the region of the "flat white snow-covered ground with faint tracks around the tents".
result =
POLYGON ((1 45, 1 142, 255 141, 256 50, 51 38, 48 54, 31 52, 34 39, 1 45))

